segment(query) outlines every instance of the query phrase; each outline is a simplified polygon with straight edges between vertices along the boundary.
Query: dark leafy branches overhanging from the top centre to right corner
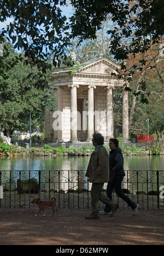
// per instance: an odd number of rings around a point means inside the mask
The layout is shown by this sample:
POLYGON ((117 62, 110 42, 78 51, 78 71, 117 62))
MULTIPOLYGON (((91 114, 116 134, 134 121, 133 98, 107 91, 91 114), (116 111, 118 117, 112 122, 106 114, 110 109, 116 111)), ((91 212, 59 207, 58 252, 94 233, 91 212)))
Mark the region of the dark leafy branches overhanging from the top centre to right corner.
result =
MULTIPOLYGON (((164 33, 164 6, 163 0, 72 0, 75 12, 71 17, 72 38, 78 37, 80 42, 90 38, 96 38, 96 30, 101 29, 101 22, 107 20, 110 14, 114 28, 108 30, 112 40, 110 41, 110 53, 115 60, 121 61, 119 75, 130 82, 136 72, 143 71, 143 66, 148 68, 156 56, 145 59, 145 55, 132 65, 131 69, 126 66, 126 61, 133 55, 145 54, 156 43, 161 40, 164 33), (126 42, 122 44, 122 41, 126 42)), ((143 83, 144 81, 141 81, 143 83)), ((131 90, 131 88, 126 88, 131 90)))

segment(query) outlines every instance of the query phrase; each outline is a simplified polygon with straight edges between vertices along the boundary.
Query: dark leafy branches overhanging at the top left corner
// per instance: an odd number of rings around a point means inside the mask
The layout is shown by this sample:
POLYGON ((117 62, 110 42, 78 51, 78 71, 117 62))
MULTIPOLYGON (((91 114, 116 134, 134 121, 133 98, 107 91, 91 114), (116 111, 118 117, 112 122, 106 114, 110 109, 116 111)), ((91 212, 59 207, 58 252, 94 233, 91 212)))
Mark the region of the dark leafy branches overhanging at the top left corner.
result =
MULTIPOLYGON (((50 55, 54 66, 60 65, 59 56, 66 57, 64 46, 69 45, 69 26, 66 16, 62 15, 62 5, 66 5, 66 0, 0 2, 0 21, 13 19, 6 28, 2 28, 0 43, 7 38, 15 49, 23 50, 26 65, 37 66, 39 78, 51 69, 51 63, 47 62, 50 55)), ((46 82, 46 78, 44 80, 46 82)), ((42 88, 41 84, 36 86, 42 88)))

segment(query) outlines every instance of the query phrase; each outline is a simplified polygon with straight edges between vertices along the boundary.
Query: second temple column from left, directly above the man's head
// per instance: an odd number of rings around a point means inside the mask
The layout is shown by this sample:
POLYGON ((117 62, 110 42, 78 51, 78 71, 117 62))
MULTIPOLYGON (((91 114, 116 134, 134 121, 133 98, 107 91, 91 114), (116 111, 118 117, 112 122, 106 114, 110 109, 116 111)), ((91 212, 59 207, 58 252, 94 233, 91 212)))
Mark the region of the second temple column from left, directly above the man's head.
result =
POLYGON ((91 141, 94 132, 94 89, 96 86, 87 86, 88 103, 87 103, 87 141, 91 141))

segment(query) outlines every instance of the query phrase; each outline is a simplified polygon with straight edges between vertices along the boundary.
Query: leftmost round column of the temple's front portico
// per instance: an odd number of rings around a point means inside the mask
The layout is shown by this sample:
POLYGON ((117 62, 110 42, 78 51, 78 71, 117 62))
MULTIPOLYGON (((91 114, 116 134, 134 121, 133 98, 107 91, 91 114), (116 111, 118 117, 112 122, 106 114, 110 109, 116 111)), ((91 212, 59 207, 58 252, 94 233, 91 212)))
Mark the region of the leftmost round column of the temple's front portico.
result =
POLYGON ((71 141, 78 141, 77 88, 79 85, 68 85, 71 88, 71 141))

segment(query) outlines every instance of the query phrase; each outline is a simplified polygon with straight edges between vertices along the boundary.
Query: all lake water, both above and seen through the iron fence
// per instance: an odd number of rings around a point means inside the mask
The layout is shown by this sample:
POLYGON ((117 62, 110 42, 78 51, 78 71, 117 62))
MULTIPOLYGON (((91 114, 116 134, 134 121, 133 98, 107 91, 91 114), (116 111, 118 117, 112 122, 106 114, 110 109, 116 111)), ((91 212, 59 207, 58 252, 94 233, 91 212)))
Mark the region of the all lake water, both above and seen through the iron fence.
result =
MULTIPOLYGON (((21 179, 27 180, 32 177, 37 178, 38 180, 38 172, 34 172, 35 170, 44 170, 41 172, 41 183, 42 189, 49 190, 49 188, 54 188, 57 190, 63 189, 67 190, 69 187, 68 180, 72 181, 70 184, 71 187, 77 185, 78 174, 74 172, 75 170, 86 170, 87 165, 89 164, 90 156, 62 156, 62 157, 54 157, 54 156, 25 156, 25 157, 8 157, 0 159, 0 171, 12 171, 11 172, 11 180, 16 184, 17 179, 19 179, 19 173, 16 171, 26 171, 31 170, 30 172, 22 173, 21 179), (60 173, 60 188, 58 185, 58 174, 53 170, 63 170, 64 172, 60 173), (68 172, 71 170, 71 172, 68 172), (36 174, 37 173, 37 174, 36 174), (50 179, 51 183, 49 184, 47 181, 50 179), (45 184, 46 180, 46 184, 45 184), (45 186, 45 187, 44 187, 45 186), (50 187, 49 187, 50 186, 50 187), (57 187, 56 187, 57 186, 57 187)), ((164 170, 164 156, 125 156, 124 157, 124 169, 125 170, 138 170, 137 172, 126 172, 125 176, 125 184, 123 184, 124 188, 127 188, 128 179, 128 189, 131 191, 137 190, 137 177, 139 190, 147 191, 147 179, 149 180, 148 186, 149 190, 156 190, 156 172, 152 171, 160 171, 164 170), (142 172, 143 170, 148 170, 148 172, 142 172), (138 176, 137 176, 138 175, 138 176)), ((2 183, 9 182, 9 172, 2 173, 2 183)), ((160 172, 159 176, 160 185, 164 183, 163 172, 160 172)), ((80 187, 87 188, 85 172, 80 173, 80 187), (85 181, 85 183, 84 183, 85 181)), ((89 188, 91 184, 89 185, 89 188)), ((105 185, 106 187, 106 185, 105 185)))

